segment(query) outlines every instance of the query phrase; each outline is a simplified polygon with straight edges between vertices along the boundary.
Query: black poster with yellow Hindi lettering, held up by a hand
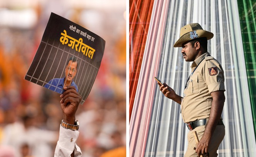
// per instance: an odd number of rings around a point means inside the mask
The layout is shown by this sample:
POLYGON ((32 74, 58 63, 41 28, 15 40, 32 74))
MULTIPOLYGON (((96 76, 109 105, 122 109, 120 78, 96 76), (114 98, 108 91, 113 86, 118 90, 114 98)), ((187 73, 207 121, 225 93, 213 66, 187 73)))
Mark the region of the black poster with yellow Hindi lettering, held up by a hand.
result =
POLYGON ((51 13, 25 79, 57 93, 74 86, 88 97, 100 68, 105 40, 76 23, 51 13))

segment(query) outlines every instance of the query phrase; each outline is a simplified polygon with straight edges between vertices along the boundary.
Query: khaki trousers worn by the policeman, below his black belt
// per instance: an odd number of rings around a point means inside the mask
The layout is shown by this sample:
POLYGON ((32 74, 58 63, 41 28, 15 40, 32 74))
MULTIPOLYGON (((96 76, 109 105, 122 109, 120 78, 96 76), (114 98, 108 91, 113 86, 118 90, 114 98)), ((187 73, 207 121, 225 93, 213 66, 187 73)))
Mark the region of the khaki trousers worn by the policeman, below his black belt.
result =
MULTIPOLYGON (((197 146, 196 139, 194 137, 194 131, 196 131, 198 139, 200 140, 202 138, 202 135, 204 134, 204 130, 205 130, 204 126, 199 126, 199 127, 196 127, 194 130, 189 131, 189 133, 187 134, 188 147, 184 157, 197 157, 196 151, 194 150, 194 147, 197 146)), ((221 141, 224 139, 224 136, 225 136, 225 126, 217 125, 211 137, 211 141, 208 147, 210 157, 218 156, 217 150, 219 145, 221 144, 221 141)))

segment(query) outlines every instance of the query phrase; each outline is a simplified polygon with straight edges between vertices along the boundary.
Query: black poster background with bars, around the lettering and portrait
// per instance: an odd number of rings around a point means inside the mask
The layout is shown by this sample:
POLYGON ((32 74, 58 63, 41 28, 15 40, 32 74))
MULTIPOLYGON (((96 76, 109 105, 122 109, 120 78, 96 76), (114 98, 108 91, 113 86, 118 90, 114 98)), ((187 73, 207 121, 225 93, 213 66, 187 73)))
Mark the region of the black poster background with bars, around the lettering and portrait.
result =
POLYGON ((100 36, 70 20, 51 13, 44 35, 30 68, 25 75, 25 79, 44 86, 45 83, 53 78, 64 78, 67 61, 70 57, 75 56, 78 59, 78 66, 73 81, 78 87, 79 94, 82 96, 81 104, 83 104, 92 89, 99 71, 104 48, 105 40, 100 36), (74 28, 72 30, 70 26, 75 27, 75 30, 74 28), (76 51, 75 46, 73 49, 72 46, 68 46, 70 39, 67 44, 60 42, 60 38, 63 36, 61 33, 64 33, 64 30, 66 30, 68 36, 75 40, 82 38, 82 43, 95 49, 92 59, 88 55, 84 55, 82 51, 76 51), (86 35, 82 35, 81 31, 86 33, 86 35))

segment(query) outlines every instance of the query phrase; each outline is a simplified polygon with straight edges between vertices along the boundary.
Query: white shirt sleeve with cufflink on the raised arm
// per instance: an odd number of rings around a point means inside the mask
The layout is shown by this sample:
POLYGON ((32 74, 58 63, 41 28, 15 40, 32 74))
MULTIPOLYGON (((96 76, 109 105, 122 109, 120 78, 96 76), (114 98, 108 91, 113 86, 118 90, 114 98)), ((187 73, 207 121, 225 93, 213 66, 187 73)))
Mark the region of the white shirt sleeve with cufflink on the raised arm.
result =
POLYGON ((75 157, 81 157, 82 152, 76 144, 79 131, 72 131, 60 126, 59 141, 57 142, 54 157, 70 157, 75 150, 75 157))

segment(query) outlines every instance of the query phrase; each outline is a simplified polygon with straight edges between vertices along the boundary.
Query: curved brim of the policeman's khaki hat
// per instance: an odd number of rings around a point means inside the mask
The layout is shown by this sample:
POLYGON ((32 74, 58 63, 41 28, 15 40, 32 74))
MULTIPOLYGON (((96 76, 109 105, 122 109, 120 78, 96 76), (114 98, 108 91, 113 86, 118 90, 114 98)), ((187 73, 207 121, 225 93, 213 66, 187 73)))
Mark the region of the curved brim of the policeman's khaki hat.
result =
MULTIPOLYGON (((209 31, 206 31, 206 30, 196 30, 196 33, 198 35, 198 37, 196 38, 202 38, 202 37, 206 37, 207 40, 213 38, 213 33, 209 32, 209 31)), ((173 45, 173 47, 177 48, 177 47, 182 47, 182 44, 183 43, 186 43, 187 41, 190 41, 190 40, 194 40, 196 38, 192 38, 190 36, 190 32, 182 35, 173 45)))

